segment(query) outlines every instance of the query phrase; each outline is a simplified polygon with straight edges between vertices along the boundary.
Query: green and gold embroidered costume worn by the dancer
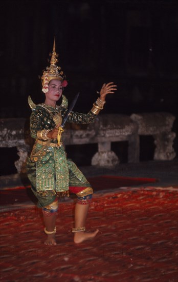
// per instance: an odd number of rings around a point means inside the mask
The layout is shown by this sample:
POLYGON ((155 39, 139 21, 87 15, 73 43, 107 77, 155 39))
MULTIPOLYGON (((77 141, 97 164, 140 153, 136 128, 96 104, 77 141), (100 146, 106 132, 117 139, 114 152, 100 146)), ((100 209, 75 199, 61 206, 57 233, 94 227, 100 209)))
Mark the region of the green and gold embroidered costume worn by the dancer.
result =
MULTIPOLYGON (((66 158, 62 144, 58 146, 57 139, 46 140, 41 134, 43 130, 53 130, 61 123, 68 107, 67 99, 62 97, 61 106, 56 107, 35 105, 31 100, 29 103, 32 108, 30 132, 36 141, 27 162, 27 173, 39 207, 52 203, 57 194, 68 194, 69 186, 91 187, 72 160, 66 158)), ((92 111, 87 114, 71 112, 68 122, 88 124, 93 123, 95 118, 92 111)))

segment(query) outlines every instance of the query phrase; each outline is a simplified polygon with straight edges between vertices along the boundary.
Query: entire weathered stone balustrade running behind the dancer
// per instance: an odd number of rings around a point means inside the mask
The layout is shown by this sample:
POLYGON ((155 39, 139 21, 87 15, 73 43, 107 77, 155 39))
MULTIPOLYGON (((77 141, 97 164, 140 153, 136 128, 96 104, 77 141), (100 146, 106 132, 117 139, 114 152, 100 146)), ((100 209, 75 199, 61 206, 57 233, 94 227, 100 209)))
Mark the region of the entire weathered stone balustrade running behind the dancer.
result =
MULTIPOLYGON (((128 142, 128 162, 137 163, 140 157, 139 135, 154 137, 154 159, 173 159, 172 148, 175 133, 172 125, 175 117, 170 113, 103 114, 95 123, 67 124, 62 136, 63 144, 98 144, 98 152, 92 157, 92 165, 112 167, 119 163, 111 150, 112 142, 128 142)), ((19 159, 15 162, 18 173, 26 172, 26 159, 34 140, 30 136, 29 119, 0 119, 0 147, 17 147, 19 159)))

